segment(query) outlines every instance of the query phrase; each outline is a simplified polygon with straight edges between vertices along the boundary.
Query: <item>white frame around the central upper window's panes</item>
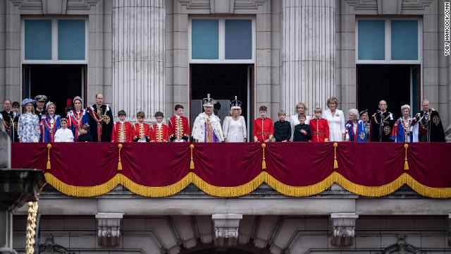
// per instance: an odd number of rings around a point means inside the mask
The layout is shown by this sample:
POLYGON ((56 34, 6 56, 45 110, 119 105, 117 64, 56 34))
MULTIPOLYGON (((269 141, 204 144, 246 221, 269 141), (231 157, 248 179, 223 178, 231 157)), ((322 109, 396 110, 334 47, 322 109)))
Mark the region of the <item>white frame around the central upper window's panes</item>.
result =
POLYGON ((255 63, 256 28, 254 16, 190 16, 188 17, 188 54, 190 63, 255 63), (218 59, 192 59, 191 31, 193 19, 218 20, 218 59), (252 59, 226 59, 226 20, 251 20, 252 59))

